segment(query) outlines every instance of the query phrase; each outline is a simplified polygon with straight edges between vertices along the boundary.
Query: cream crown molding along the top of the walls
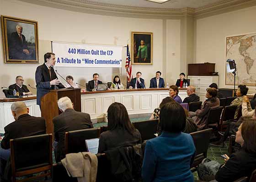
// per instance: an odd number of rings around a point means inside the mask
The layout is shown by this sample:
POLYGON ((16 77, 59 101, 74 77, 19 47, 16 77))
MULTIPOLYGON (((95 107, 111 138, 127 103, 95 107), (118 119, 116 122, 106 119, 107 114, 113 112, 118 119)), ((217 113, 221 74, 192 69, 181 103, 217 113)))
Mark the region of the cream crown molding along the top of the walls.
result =
POLYGON ((180 19, 183 16, 194 16, 196 19, 218 15, 256 5, 256 0, 223 0, 219 3, 199 8, 149 8, 128 5, 115 5, 90 0, 20 0, 36 5, 77 11, 97 15, 112 15, 134 18, 180 19))

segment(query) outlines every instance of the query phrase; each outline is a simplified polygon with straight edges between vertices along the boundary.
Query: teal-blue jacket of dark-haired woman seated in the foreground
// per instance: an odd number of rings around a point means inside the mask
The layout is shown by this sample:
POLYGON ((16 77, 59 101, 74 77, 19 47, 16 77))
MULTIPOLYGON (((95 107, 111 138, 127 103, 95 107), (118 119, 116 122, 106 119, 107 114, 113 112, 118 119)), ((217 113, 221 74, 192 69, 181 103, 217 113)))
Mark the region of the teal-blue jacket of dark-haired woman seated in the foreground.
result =
POLYGON ((190 171, 196 148, 187 133, 163 133, 146 143, 143 182, 193 182, 190 171))

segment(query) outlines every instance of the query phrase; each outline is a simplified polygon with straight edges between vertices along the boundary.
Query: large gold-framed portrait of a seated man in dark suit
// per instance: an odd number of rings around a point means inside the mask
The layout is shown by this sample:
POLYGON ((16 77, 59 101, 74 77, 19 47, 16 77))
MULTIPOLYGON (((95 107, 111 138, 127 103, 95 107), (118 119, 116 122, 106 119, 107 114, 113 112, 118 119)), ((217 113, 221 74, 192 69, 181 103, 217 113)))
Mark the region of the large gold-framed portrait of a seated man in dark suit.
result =
POLYGON ((37 21, 1 15, 5 63, 39 63, 37 21))

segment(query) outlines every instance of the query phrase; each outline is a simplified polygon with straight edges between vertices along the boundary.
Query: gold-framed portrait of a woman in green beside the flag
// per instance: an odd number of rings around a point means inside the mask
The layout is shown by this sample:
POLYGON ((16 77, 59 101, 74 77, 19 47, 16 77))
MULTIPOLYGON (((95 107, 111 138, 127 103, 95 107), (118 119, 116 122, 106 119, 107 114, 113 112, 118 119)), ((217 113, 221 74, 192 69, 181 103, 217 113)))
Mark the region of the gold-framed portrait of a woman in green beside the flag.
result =
POLYGON ((152 65, 153 33, 132 32, 132 64, 152 65))

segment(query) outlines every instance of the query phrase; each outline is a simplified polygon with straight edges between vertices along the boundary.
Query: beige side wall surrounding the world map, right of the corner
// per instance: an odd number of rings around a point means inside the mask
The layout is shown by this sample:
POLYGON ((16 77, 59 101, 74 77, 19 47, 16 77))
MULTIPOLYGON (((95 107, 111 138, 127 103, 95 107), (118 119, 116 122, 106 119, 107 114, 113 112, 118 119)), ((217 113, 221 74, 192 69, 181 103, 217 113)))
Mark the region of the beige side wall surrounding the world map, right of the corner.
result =
MULTIPOLYGON (((256 6, 196 20, 196 63, 216 63, 219 87, 225 85, 225 38, 256 32, 256 6)), ((256 64, 256 63, 254 63, 256 64)), ((239 73, 238 73, 238 76, 239 73)), ((255 92, 255 87, 249 87, 255 92)))

